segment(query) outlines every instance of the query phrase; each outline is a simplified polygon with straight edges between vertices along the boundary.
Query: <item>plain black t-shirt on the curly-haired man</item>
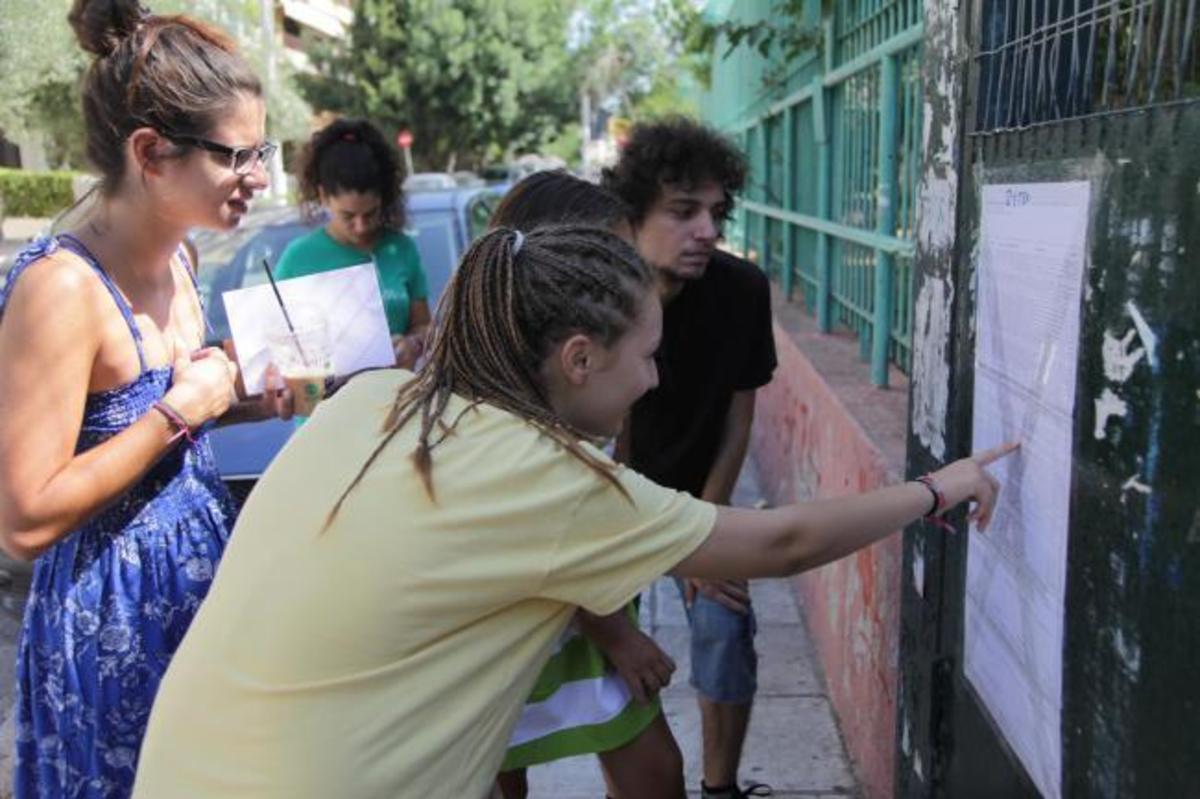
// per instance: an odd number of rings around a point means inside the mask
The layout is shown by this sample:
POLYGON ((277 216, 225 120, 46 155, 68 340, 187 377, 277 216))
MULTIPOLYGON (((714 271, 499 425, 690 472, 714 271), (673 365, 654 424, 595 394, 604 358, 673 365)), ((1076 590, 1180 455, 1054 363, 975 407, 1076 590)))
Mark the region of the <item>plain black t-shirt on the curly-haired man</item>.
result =
POLYGON ((700 495, 737 391, 775 371, 770 284, 748 260, 718 251, 704 276, 662 310, 659 386, 634 405, 630 465, 700 495))

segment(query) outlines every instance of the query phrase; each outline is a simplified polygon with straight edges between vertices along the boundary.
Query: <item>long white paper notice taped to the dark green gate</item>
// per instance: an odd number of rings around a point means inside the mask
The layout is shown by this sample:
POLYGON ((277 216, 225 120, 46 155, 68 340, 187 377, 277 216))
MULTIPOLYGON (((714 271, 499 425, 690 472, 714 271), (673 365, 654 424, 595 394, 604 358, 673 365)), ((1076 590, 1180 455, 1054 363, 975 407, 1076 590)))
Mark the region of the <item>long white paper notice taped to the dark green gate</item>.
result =
POLYGON ((1091 187, 983 188, 973 449, 1020 439, 967 545, 964 671, 1049 799, 1062 795, 1072 419, 1091 187))

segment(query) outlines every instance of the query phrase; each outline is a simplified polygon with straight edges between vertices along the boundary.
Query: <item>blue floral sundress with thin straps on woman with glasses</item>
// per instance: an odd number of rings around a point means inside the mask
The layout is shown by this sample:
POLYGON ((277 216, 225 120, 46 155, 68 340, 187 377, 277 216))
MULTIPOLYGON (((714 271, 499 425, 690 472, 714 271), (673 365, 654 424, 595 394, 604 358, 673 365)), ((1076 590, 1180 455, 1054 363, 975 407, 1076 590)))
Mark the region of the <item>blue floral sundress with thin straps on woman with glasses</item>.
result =
MULTIPOLYGON (((20 274, 58 247, 96 270, 142 366, 132 383, 88 396, 78 453, 150 413, 172 370, 146 368, 132 310, 70 236, 37 241, 18 257, 0 287, 0 314, 20 274)), ((17 655, 18 799, 132 792, 155 692, 209 590, 234 513, 200 434, 37 559, 17 655)))

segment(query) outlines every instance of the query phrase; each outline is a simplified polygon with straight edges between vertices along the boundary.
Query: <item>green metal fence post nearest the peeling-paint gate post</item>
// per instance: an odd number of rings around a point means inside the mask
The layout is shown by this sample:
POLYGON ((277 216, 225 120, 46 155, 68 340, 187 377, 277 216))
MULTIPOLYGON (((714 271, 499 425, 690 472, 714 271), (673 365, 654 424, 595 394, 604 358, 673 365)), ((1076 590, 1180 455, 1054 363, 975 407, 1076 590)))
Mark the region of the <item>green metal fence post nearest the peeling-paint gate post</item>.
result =
MULTIPOLYGON (((883 59, 880 74, 880 188, 876 199, 876 232, 895 235, 896 118, 899 115, 900 70, 895 55, 883 59)), ((888 385, 888 344, 892 341, 892 284, 895 259, 875 251, 875 318, 871 330, 871 382, 888 385)))

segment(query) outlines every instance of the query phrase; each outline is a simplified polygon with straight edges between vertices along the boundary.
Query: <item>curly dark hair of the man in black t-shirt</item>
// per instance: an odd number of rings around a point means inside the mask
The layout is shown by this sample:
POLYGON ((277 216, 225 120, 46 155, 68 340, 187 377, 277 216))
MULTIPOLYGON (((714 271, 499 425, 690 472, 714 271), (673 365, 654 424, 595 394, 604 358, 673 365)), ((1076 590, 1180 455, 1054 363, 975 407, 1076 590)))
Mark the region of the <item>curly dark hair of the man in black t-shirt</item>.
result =
POLYGON ((629 205, 634 221, 646 218, 665 186, 694 187, 716 181, 726 204, 746 181, 746 160, 710 127, 686 116, 641 122, 630 131, 620 158, 601 173, 601 184, 629 205))

